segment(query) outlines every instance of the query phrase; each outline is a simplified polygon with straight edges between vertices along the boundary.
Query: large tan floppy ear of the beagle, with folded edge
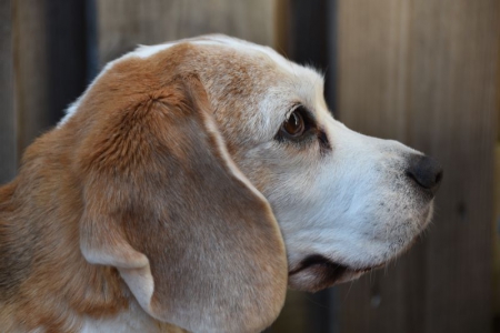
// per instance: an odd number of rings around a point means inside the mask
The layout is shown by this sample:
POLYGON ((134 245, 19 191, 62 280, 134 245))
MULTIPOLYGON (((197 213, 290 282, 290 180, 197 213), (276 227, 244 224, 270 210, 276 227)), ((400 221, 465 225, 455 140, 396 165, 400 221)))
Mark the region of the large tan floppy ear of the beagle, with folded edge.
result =
POLYGON ((117 268, 160 321, 196 332, 267 327, 286 294, 283 241, 230 159, 201 82, 177 79, 119 111, 80 153, 84 258, 117 268))

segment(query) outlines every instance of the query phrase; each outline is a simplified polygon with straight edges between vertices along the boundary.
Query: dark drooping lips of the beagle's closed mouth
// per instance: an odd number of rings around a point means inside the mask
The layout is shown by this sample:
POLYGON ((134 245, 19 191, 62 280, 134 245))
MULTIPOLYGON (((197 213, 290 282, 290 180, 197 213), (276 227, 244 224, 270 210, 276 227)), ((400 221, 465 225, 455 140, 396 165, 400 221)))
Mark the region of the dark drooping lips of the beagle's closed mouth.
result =
POLYGON ((362 274, 381 266, 383 264, 352 268, 332 262, 320 254, 313 254, 307 256, 290 270, 288 274, 289 286, 296 290, 316 292, 338 283, 358 279, 362 274))

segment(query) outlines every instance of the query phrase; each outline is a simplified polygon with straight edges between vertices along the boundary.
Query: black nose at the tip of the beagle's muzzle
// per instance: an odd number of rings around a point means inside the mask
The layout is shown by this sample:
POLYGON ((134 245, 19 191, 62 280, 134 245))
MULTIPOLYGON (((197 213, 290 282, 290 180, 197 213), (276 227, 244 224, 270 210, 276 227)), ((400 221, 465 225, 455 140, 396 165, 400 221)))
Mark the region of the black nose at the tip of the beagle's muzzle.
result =
POLYGON ((439 162, 426 155, 413 154, 408 163, 407 175, 432 195, 436 194, 442 180, 439 162))

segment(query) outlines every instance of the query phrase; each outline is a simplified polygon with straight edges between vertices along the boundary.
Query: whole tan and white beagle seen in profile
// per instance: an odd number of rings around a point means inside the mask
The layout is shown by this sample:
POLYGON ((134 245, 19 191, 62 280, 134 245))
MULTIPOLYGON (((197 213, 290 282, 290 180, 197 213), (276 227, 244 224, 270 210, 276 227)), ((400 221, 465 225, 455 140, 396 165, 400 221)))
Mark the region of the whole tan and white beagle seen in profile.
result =
POLYGON ((439 164, 347 129, 323 80, 207 36, 109 63, 0 188, 0 331, 259 332, 404 251, 439 164))

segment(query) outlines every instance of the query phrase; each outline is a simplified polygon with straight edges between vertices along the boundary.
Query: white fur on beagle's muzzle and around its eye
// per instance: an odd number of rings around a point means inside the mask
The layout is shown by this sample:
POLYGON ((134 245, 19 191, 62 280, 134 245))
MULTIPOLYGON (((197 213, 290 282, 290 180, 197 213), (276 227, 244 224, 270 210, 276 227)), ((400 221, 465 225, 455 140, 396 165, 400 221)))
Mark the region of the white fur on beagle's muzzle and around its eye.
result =
POLYGON ((263 194, 279 221, 290 266, 311 254, 354 270, 383 264, 408 248, 432 214, 432 201, 421 200, 404 175, 407 158, 420 153, 349 130, 328 111, 319 75, 303 68, 296 74, 292 88, 271 88, 260 103, 262 114, 274 114, 273 130, 264 130, 268 135, 246 157, 264 162, 243 165, 243 173, 273 164, 263 194), (291 160, 269 143, 283 121, 283 105, 297 100, 324 129, 332 147, 326 157, 311 151, 307 159, 291 160))

